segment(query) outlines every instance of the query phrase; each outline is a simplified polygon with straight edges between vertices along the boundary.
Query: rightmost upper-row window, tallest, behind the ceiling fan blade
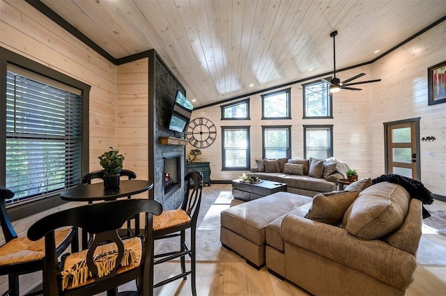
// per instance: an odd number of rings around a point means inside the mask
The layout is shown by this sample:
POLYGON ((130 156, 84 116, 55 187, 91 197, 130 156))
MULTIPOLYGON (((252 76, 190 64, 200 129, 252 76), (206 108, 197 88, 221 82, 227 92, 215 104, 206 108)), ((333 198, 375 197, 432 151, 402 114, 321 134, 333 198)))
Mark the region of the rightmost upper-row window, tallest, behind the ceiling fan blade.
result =
POLYGON ((332 118, 332 95, 327 83, 318 80, 302 86, 304 118, 332 118))

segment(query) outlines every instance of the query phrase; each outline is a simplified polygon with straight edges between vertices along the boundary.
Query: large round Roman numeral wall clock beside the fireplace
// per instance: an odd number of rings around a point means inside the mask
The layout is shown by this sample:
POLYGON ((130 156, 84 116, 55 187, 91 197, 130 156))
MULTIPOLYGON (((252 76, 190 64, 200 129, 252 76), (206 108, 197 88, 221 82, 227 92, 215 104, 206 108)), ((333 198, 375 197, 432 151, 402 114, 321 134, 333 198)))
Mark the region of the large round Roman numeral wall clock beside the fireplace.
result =
POLYGON ((187 140, 197 148, 206 148, 215 141, 217 129, 215 125, 206 118, 195 118, 187 127, 187 140))

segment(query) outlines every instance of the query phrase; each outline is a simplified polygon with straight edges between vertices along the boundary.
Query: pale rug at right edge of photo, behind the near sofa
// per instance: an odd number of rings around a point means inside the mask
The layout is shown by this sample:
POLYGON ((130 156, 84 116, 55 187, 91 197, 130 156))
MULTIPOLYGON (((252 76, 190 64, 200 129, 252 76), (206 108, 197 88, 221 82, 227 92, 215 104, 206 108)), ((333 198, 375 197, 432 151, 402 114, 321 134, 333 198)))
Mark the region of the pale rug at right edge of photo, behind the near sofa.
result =
POLYGON ((419 265, 446 265, 446 247, 421 237, 417 263, 419 265))

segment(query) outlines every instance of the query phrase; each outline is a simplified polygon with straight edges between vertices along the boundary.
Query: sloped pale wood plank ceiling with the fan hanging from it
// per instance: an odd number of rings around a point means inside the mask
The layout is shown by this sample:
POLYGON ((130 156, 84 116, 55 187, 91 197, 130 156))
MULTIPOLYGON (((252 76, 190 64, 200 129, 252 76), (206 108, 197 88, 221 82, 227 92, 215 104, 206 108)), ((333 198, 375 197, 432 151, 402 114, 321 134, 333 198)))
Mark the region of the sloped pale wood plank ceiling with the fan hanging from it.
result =
POLYGON ((196 107, 326 75, 334 30, 341 69, 376 59, 446 15, 445 0, 41 2, 114 59, 155 49, 196 107))

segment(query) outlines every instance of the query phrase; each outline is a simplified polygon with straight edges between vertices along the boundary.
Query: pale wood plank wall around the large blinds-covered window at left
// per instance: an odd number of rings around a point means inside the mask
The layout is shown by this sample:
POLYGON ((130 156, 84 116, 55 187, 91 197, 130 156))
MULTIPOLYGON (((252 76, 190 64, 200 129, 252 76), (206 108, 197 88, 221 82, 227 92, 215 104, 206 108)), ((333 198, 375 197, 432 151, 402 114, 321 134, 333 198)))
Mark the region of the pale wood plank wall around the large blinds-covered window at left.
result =
MULTIPOLYGON (((0 0, 0 46, 91 85, 90 171, 100 169, 98 156, 116 147, 116 65, 84 45, 25 1, 0 0)), ((26 235, 34 221, 51 212, 82 203, 68 203, 13 223, 17 234, 26 235)), ((0 245, 4 243, 0 233, 0 245)), ((40 272, 20 276, 24 293, 36 286, 40 272)), ((0 277, 0 293, 8 287, 0 277)))

